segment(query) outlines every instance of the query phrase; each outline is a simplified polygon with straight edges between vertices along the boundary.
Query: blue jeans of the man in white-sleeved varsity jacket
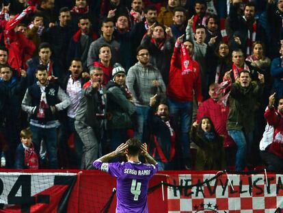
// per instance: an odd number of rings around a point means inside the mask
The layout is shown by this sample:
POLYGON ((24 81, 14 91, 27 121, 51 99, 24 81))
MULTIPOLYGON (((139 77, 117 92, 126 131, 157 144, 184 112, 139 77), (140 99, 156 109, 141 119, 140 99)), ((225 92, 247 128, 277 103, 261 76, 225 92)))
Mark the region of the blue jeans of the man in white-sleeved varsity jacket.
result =
POLYGON ((32 132, 32 142, 36 153, 40 153, 40 142, 43 139, 46 143, 49 155, 49 168, 58 168, 57 160, 57 131, 56 128, 42 128, 30 125, 32 132))

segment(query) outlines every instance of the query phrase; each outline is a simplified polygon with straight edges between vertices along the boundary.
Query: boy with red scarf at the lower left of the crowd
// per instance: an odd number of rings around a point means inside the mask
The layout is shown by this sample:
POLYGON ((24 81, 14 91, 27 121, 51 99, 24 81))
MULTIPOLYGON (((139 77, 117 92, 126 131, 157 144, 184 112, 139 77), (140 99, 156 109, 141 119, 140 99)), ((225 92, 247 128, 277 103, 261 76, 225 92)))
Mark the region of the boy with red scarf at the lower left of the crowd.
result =
POLYGON ((32 144, 32 133, 29 128, 20 134, 21 143, 16 149, 15 168, 38 169, 38 154, 32 144))

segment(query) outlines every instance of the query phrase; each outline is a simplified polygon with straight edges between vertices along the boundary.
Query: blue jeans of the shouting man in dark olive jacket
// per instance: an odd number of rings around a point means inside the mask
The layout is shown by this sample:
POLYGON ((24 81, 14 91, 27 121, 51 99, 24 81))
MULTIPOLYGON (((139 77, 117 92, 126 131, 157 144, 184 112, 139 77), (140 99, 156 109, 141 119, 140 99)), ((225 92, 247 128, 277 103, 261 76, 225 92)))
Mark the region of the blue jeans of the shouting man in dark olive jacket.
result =
POLYGON ((247 142, 245 140, 245 135, 241 130, 228 130, 229 136, 233 138, 237 145, 235 170, 241 171, 245 168, 245 153, 247 149, 247 142))

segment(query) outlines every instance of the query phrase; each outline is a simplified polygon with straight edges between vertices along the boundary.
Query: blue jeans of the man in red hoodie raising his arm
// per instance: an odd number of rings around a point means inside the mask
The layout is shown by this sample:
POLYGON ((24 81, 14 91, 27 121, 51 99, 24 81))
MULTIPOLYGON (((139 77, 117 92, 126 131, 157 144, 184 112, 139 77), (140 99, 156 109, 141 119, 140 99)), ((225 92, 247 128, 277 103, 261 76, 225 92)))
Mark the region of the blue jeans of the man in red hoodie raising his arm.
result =
POLYGON ((180 129, 180 148, 183 154, 183 160, 187 166, 191 166, 191 151, 189 142, 189 129, 191 129, 191 115, 193 113, 193 102, 179 102, 168 99, 170 108, 170 118, 172 119, 174 129, 180 129), (187 162, 189 161, 189 162, 187 162))

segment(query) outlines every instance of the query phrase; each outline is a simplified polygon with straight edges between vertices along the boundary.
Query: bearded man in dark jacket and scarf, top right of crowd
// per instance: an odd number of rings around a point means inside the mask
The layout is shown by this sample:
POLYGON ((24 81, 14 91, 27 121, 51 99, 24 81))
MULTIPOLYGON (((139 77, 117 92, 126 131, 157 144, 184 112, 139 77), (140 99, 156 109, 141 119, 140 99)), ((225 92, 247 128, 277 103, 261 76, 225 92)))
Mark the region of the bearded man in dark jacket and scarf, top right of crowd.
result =
POLYGON ((266 43, 265 29, 260 22, 255 19, 256 5, 252 2, 245 4, 243 16, 239 15, 239 3, 230 5, 229 25, 233 36, 230 38, 232 49, 241 48, 245 55, 252 54, 252 45, 255 41, 266 43))

